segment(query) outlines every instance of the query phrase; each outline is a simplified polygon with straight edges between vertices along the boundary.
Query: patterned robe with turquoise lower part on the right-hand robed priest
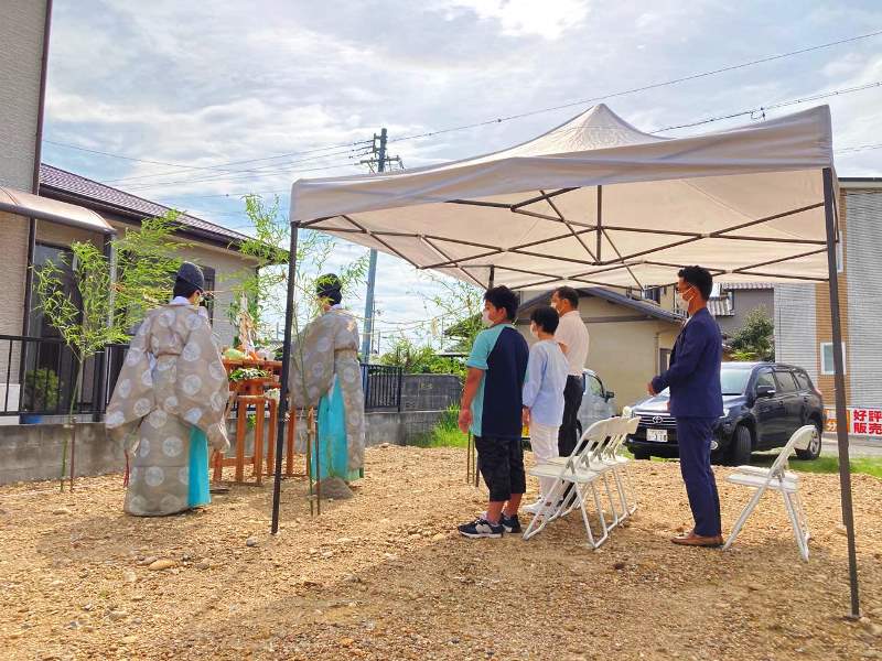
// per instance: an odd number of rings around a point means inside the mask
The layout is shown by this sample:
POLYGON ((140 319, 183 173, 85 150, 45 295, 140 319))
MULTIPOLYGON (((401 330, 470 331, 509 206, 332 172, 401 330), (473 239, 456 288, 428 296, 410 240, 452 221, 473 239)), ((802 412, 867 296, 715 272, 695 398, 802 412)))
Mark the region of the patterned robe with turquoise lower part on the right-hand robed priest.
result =
POLYGON ((330 446, 337 438, 334 435, 325 443, 321 454, 324 456, 325 451, 333 455, 342 453, 345 457, 343 469, 333 465, 333 460, 321 459, 319 479, 329 474, 343 479, 354 478, 364 466, 365 451, 365 395, 362 390, 355 317, 342 307, 334 306, 312 321, 291 348, 290 375, 288 383, 292 408, 304 409, 321 403, 320 437, 329 437, 329 429, 335 426, 335 404, 342 401, 345 435, 341 434, 340 440, 345 442, 345 447, 330 446), (324 415, 325 411, 330 413, 324 415))

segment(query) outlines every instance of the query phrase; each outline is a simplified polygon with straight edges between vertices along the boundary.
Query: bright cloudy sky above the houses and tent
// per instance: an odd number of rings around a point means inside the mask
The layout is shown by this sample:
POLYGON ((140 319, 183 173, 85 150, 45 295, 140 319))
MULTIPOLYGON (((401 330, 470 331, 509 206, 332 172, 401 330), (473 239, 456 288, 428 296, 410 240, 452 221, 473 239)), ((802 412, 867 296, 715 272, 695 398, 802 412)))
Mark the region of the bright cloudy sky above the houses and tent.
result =
MULTIPOLYGON (((243 231, 243 194, 278 195, 287 208, 299 177, 364 172, 363 141, 380 127, 406 167, 461 159, 537 136, 588 99, 882 30, 874 0, 54 7, 45 138, 67 147, 46 143, 44 161, 243 231)), ((656 130, 880 80, 882 36, 873 36, 605 102, 656 130)), ((831 106, 839 174, 881 176, 882 149, 873 148, 882 145, 882 87, 818 102, 831 106)), ((362 252, 341 246, 340 259, 362 252)), ((417 294, 431 285, 387 256, 379 273, 380 328, 389 337, 427 316, 417 294)))

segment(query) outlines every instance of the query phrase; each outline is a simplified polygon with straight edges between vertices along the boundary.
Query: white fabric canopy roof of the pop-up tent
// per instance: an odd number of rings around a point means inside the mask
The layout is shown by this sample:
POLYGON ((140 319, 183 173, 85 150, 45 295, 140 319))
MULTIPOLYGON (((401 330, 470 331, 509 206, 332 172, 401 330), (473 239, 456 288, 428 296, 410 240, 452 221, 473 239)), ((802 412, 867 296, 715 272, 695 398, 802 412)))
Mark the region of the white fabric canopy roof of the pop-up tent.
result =
POLYGON ((481 286, 825 280, 832 163, 826 106, 668 139, 600 105, 483 156, 299 180, 291 220, 481 286))

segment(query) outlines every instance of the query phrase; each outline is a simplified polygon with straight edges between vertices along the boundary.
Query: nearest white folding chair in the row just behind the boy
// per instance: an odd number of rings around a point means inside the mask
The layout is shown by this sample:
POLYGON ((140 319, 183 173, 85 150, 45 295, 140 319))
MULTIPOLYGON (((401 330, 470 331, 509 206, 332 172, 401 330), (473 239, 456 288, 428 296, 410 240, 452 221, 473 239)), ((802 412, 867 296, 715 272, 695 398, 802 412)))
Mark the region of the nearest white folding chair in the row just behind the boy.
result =
MULTIPOLYGON (((582 512, 582 522, 585 527, 589 545, 592 549, 598 549, 606 541, 610 529, 603 516, 600 496, 594 488, 594 483, 601 478, 601 473, 592 470, 588 466, 590 463, 589 457, 598 452, 601 444, 606 443, 609 438, 607 427, 609 421, 606 420, 595 422, 582 434, 579 444, 577 444, 570 456, 566 457, 563 463, 546 462, 530 469, 530 475, 535 477, 550 477, 555 479, 551 492, 547 495, 548 501, 555 505, 551 506, 551 511, 538 513, 533 518, 527 530, 524 531, 525 540, 541 532, 545 527, 555 519, 566 516, 576 507, 579 507, 582 512), (564 498, 568 487, 570 492, 564 498), (599 539, 594 538, 585 508, 585 496, 589 489, 591 489, 594 507, 600 518, 601 535, 599 539)), ((558 459, 561 458, 563 457, 558 457, 558 459)))

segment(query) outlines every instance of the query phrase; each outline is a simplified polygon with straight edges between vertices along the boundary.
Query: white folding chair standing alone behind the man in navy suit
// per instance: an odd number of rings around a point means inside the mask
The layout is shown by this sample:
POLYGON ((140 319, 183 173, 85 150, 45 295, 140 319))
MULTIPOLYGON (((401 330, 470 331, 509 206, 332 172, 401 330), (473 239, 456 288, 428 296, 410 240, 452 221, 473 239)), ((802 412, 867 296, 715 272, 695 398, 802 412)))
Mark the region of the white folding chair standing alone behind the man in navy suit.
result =
POLYGON ((760 502, 760 498, 767 489, 771 489, 781 494, 784 499, 784 508, 787 510, 787 517, 790 519, 790 525, 793 525, 793 537, 799 549, 799 555, 802 555, 803 560, 808 561, 808 519, 799 498, 799 476, 787 470, 787 462, 795 449, 807 449, 817 433, 818 430, 810 424, 799 427, 787 441, 787 445, 782 448, 781 454, 778 454, 771 467, 739 466, 736 473, 725 478, 729 483, 742 485, 755 491, 747 505, 744 506, 744 510, 729 534, 729 539, 725 540, 723 550, 732 545, 756 503, 760 502))

